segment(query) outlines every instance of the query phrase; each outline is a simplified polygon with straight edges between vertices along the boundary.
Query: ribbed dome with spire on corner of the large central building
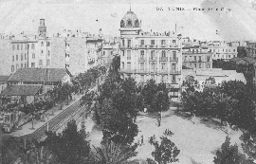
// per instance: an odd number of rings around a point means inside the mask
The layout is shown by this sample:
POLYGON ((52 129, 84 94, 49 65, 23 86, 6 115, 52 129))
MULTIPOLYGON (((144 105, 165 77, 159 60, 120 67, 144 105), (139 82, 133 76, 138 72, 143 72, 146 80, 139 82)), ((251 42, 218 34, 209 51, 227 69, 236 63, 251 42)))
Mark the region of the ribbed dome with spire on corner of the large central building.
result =
POLYGON ((120 21, 120 27, 140 27, 137 15, 133 11, 127 11, 120 21))

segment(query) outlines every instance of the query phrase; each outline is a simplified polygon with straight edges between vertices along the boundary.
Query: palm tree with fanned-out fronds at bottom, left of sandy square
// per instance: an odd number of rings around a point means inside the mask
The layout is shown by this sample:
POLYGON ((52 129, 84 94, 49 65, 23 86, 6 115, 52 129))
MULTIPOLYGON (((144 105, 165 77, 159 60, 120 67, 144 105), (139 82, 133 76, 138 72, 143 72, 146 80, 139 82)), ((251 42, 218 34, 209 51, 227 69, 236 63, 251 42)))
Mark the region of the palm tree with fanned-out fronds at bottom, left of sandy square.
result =
POLYGON ((101 143, 101 148, 95 148, 96 154, 93 155, 97 164, 127 164, 133 161, 128 161, 131 157, 137 155, 135 152, 137 145, 133 147, 125 147, 113 141, 101 143))

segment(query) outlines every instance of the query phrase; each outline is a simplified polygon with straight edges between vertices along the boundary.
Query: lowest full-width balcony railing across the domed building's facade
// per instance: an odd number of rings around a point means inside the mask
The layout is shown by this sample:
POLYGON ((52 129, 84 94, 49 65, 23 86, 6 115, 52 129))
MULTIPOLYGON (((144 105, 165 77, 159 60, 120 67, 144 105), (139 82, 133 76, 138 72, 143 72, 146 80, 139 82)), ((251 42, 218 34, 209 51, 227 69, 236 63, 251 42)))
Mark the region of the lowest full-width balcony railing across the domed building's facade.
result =
POLYGON ((154 69, 120 69, 120 73, 134 74, 181 74, 180 70, 154 70, 154 69))

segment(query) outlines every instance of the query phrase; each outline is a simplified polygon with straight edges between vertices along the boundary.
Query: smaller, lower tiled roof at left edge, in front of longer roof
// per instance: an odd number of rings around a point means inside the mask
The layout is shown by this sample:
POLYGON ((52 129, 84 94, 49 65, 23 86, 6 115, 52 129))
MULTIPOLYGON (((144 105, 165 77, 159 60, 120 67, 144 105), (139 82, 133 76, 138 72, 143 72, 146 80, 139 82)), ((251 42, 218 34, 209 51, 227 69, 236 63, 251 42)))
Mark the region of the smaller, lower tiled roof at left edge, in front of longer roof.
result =
POLYGON ((5 96, 34 96, 42 85, 9 85, 1 95, 5 96))

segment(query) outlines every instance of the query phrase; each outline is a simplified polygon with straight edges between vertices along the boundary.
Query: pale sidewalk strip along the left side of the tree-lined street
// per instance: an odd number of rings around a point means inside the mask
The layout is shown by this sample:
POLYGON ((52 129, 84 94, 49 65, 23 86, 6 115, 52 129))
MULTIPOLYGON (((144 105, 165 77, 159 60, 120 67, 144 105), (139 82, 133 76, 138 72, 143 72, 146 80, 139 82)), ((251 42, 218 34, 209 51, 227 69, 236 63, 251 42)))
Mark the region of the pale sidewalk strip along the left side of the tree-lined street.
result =
POLYGON ((33 125, 34 128, 33 129, 32 129, 32 121, 29 121, 29 122, 27 122, 26 124, 24 124, 22 126, 21 130, 17 130, 15 132, 11 133, 10 136, 12 136, 12 137, 22 137, 22 136, 34 133, 35 131, 40 129, 42 126, 46 125, 46 123, 51 121, 53 118, 57 118, 61 113, 63 113, 65 111, 66 108, 68 108, 72 104, 76 103, 81 98, 82 98, 82 95, 75 95, 73 97, 73 100, 71 102, 69 102, 68 105, 64 104, 63 110, 59 110, 60 105, 53 107, 53 111, 54 111, 53 116, 52 116, 52 109, 46 111, 46 113, 44 114, 45 115, 45 121, 34 120, 34 125, 33 125))

